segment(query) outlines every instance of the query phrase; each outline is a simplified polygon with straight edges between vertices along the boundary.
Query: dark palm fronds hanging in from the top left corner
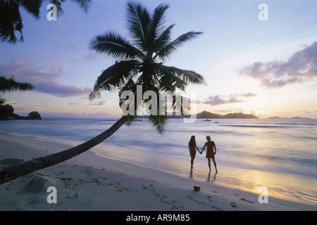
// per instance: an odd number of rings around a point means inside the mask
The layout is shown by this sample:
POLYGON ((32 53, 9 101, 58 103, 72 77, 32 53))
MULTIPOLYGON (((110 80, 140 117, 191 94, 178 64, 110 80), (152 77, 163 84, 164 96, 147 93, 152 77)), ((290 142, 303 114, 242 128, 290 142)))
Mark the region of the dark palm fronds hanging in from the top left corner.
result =
MULTIPOLYGON (((59 14, 63 12, 61 5, 65 0, 49 0, 50 3, 56 4, 59 14)), ((91 0, 73 0, 87 12, 91 0)), ((23 41, 23 23, 20 15, 20 7, 23 7, 28 13, 35 18, 39 18, 39 8, 44 3, 43 0, 0 0, 0 37, 2 41, 15 43, 18 40, 15 32, 20 33, 20 41, 23 41)))

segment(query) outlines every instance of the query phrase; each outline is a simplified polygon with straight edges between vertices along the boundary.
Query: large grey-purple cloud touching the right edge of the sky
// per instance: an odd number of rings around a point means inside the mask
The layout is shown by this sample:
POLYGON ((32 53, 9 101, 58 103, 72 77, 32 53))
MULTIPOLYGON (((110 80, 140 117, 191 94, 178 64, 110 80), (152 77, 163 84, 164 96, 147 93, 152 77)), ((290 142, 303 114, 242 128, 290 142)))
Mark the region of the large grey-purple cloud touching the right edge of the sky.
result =
POLYGON ((240 75, 259 79, 268 89, 311 80, 317 77, 317 41, 300 47, 286 61, 256 62, 242 68, 240 75))

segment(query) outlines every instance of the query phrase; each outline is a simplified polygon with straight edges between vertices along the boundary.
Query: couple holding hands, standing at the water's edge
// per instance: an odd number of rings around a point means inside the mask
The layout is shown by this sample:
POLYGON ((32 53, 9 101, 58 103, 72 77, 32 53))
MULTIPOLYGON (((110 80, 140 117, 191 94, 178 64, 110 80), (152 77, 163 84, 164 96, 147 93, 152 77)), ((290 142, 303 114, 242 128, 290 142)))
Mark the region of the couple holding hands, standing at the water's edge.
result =
POLYGON ((210 159, 212 159, 213 165, 215 166, 216 173, 217 173, 218 171, 217 171, 217 165, 216 165, 216 161, 215 161, 216 144, 215 144, 215 142, 211 141, 210 136, 206 136, 206 140, 207 140, 207 142, 205 143, 204 147, 202 148, 201 151, 199 151, 199 149, 197 148, 197 145, 196 145, 195 136, 192 136, 190 138, 189 143, 188 143, 188 148, 189 148, 189 154, 190 154, 190 158, 191 158, 191 160, 190 160, 191 169, 192 169, 192 166, 194 165, 194 159, 196 156, 196 149, 198 150, 198 152, 200 154, 202 154, 203 150, 207 147, 206 158, 208 159, 209 171, 211 171, 210 159), (213 152, 213 148, 215 148, 214 152, 213 152))

